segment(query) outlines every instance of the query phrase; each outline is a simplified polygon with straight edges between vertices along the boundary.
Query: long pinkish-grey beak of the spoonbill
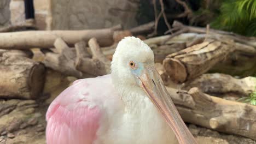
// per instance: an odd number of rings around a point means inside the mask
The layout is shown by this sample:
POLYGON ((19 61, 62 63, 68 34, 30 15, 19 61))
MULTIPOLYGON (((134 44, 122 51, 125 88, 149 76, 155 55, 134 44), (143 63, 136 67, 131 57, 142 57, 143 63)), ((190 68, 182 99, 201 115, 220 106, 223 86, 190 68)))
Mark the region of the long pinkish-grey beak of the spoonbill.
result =
POLYGON ((145 67, 138 79, 139 85, 170 125, 179 143, 196 143, 193 135, 182 121, 155 67, 145 67))

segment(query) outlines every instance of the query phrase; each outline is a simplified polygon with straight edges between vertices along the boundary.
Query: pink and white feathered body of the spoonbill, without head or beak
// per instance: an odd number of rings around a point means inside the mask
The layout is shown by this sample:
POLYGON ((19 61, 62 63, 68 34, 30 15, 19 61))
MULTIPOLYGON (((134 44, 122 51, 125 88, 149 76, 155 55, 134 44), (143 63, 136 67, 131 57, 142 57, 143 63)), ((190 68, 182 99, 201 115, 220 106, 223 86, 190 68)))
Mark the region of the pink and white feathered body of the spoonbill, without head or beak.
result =
POLYGON ((177 143, 147 95, 130 94, 125 105, 110 75, 75 81, 49 107, 47 143, 177 143))

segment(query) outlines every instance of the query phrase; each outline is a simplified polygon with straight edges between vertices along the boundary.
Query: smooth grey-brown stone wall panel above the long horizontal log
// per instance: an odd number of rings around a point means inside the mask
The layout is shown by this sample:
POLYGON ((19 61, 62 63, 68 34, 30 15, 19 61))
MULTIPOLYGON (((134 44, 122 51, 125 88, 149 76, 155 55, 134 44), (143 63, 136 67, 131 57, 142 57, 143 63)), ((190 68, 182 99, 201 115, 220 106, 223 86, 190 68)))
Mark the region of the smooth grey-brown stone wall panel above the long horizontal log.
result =
POLYGON ((96 29, 137 25, 139 0, 51 0, 50 29, 96 29))

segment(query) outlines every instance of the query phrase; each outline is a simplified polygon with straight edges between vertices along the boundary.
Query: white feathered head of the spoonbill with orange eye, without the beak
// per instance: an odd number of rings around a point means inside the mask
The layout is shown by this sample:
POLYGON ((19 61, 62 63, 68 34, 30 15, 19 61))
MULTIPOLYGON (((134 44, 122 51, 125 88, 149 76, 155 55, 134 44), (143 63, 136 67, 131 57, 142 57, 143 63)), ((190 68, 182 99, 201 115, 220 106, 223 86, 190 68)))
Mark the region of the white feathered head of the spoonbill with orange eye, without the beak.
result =
POLYGON ((118 91, 137 88, 137 79, 144 66, 154 67, 154 53, 142 40, 126 37, 121 40, 113 55, 112 80, 118 91))

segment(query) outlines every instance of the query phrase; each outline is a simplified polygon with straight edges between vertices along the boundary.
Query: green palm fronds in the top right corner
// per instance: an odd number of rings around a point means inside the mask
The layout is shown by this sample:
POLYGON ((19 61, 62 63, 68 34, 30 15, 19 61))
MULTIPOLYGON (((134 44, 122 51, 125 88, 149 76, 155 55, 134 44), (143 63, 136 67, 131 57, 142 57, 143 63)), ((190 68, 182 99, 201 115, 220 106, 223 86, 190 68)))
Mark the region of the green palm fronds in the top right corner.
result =
POLYGON ((211 23, 213 28, 256 36, 256 1, 224 0, 219 16, 211 23))

